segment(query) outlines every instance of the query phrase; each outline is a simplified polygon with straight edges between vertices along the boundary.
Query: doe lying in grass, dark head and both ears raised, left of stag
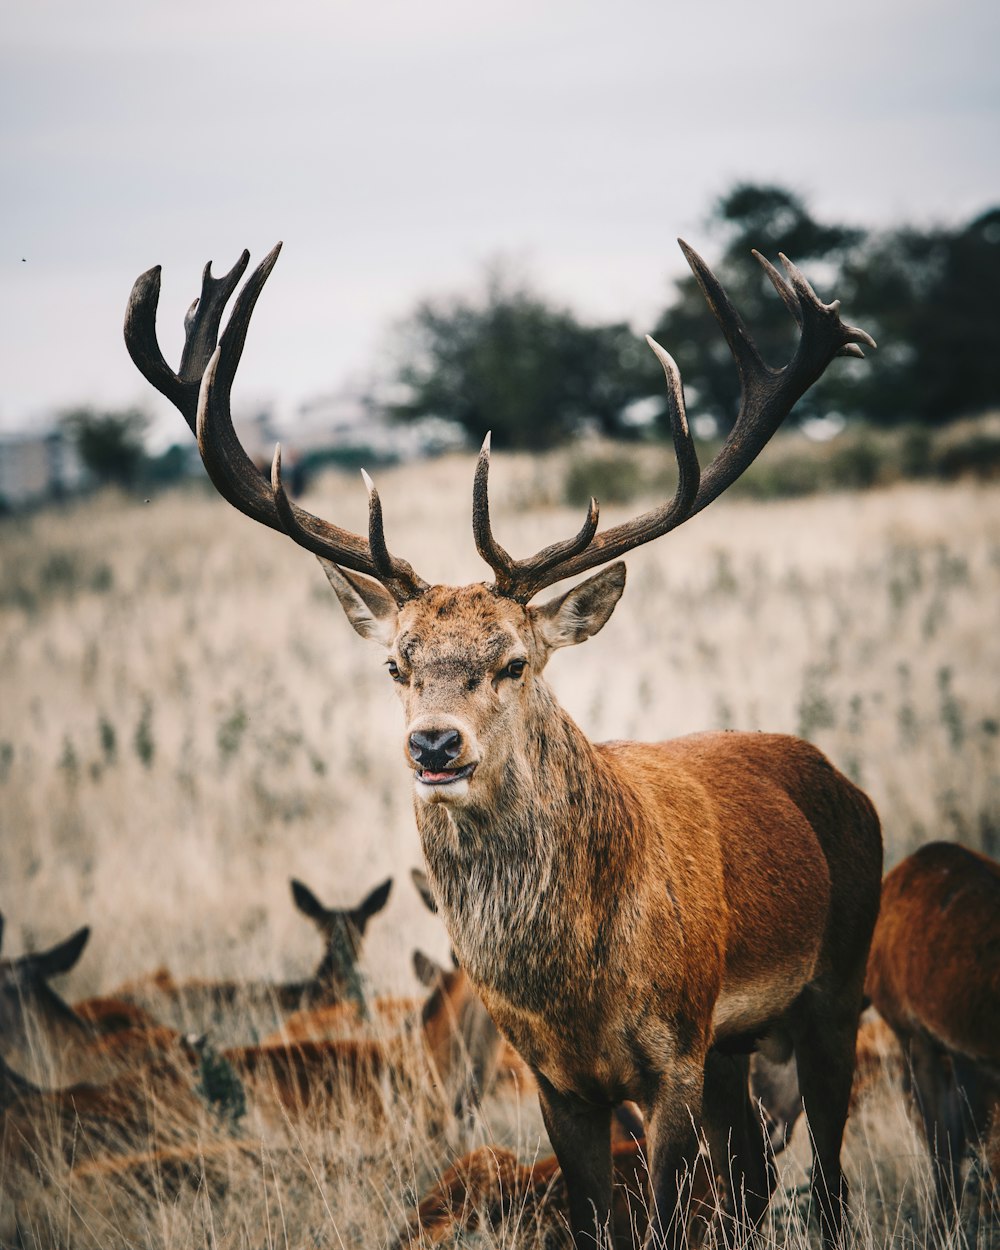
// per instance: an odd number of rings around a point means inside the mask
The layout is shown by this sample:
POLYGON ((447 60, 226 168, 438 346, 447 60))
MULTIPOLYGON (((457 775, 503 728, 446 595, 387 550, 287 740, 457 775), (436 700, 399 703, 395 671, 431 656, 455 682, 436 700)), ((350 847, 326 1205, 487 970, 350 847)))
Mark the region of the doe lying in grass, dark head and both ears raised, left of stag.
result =
POLYGON ((295 1011, 320 1004, 349 1002, 364 1012, 365 995, 359 960, 368 924, 389 900, 392 879, 382 881, 355 908, 328 908, 301 881, 292 879, 295 906, 319 929, 324 955, 315 972, 302 981, 178 981, 166 970, 119 986, 115 994, 126 1001, 151 1008, 156 1015, 184 1024, 212 1022, 234 1008, 265 1005, 295 1011))

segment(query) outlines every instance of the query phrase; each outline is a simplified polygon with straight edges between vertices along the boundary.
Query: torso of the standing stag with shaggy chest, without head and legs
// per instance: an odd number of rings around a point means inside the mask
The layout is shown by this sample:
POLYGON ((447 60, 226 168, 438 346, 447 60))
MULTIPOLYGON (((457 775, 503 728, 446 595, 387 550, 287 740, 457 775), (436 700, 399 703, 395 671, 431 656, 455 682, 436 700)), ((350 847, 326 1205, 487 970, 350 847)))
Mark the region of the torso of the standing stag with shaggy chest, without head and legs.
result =
POLYGON ((649 1106, 671 1059, 751 1049, 830 975, 831 929, 860 1000, 878 821, 819 752, 712 734, 546 754, 500 820, 438 804, 418 824, 462 966, 555 1089, 649 1106))

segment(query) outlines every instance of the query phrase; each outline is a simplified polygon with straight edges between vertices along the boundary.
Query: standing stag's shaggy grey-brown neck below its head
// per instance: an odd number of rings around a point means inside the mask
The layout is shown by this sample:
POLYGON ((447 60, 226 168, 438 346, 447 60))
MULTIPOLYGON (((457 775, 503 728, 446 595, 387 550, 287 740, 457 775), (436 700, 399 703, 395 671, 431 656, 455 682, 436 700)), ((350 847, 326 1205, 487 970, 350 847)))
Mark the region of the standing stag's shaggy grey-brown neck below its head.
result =
POLYGON ((549 688, 536 688, 526 731, 489 795, 416 806, 459 960, 480 988, 529 1010, 550 1001, 562 971, 580 960, 599 971, 621 949, 618 900, 642 860, 621 779, 549 688))

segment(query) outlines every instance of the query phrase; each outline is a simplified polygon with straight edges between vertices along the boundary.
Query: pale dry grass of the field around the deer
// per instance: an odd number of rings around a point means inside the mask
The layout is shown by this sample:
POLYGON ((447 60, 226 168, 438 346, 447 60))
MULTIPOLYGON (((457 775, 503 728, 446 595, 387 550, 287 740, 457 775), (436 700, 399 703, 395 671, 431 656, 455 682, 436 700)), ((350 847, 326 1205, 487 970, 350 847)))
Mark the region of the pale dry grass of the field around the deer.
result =
MULTIPOLYGON (((578 528, 544 502, 564 468, 495 464, 498 530, 515 552, 578 528)), ((379 485, 390 546, 424 576, 484 576, 468 458, 379 485)), ((365 524, 360 481, 326 478, 305 502, 365 524)), ((0 542, 5 949, 92 925, 70 999, 162 962, 304 975, 319 950, 288 878, 348 902, 391 874, 365 969, 379 991, 412 991, 410 950, 442 959, 446 939, 405 880, 420 850, 399 710, 310 558, 198 489, 5 521, 0 542)), ((721 501, 630 558, 615 619, 558 655, 550 679, 595 738, 802 732, 872 795, 890 862, 931 838, 998 854, 998 602, 995 489, 721 501)), ((0 1241, 16 1216, 25 1246, 380 1246, 465 1150, 548 1151, 532 1105, 492 1099, 474 1124, 441 1126, 426 1102, 394 1100, 381 1126, 350 1100, 304 1125, 251 1109, 251 1149, 176 1192, 71 1178, 60 1146, 34 1179, 0 1176, 0 1241)), ((229 1136, 201 1131, 210 1154, 229 1136)), ((768 1244, 805 1241, 798 1134, 768 1244)), ((848 1161, 859 1245, 924 1245, 930 1172, 899 1091, 852 1124, 848 1161)), ((461 1244, 541 1241, 508 1228, 461 1244)))

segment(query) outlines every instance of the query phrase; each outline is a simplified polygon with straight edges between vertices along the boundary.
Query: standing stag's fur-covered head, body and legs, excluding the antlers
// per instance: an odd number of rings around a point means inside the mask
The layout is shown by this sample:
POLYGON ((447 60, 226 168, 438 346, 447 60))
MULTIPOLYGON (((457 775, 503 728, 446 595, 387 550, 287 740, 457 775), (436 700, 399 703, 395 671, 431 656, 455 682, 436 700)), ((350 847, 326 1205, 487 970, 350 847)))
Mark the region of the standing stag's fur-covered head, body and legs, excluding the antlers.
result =
POLYGON ((782 735, 588 741, 541 670, 605 624, 620 565, 534 608, 488 586, 396 608, 326 571, 388 649, 429 879, 461 965, 539 1081, 576 1226, 610 1210, 610 1109, 626 1099, 646 1116, 661 1232, 692 1118, 720 1158, 735 1142, 731 1192, 759 1220, 772 1176, 745 1056, 762 1045, 796 1055, 834 1238, 881 876, 868 798, 782 735), (420 780, 414 735, 442 732, 461 746, 448 766, 474 766, 455 786, 420 780))

